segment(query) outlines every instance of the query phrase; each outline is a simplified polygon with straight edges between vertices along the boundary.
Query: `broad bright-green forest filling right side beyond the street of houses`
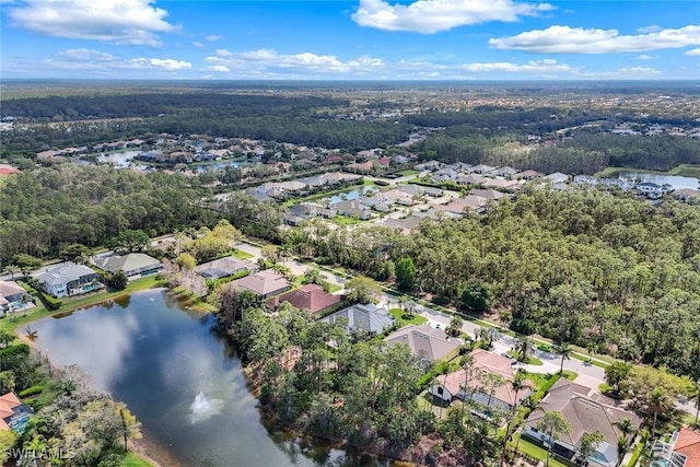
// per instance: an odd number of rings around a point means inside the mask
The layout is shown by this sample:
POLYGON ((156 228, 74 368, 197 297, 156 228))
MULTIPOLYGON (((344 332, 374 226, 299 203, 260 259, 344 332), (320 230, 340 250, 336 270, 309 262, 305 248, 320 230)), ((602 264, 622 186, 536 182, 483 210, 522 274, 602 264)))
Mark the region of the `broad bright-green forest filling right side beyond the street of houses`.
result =
POLYGON ((628 361, 698 374, 700 211, 598 191, 525 189, 485 217, 328 231, 311 223, 285 242, 323 262, 378 279, 412 265, 410 283, 465 310, 472 291, 523 334, 593 345, 628 361), (466 296, 465 291, 469 291, 466 296))

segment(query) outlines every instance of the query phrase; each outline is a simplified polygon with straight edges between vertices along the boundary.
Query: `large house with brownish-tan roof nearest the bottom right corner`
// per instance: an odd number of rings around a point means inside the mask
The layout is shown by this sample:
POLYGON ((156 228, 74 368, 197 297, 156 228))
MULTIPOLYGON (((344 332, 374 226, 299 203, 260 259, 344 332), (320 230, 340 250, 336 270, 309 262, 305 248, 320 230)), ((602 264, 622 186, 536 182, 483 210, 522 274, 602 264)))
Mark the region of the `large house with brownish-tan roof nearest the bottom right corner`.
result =
POLYGON ((540 409, 534 410, 523 431, 523 436, 545 446, 551 446, 552 453, 572 460, 585 433, 599 431, 604 441, 588 458, 591 465, 615 467, 618 465, 617 440, 622 434, 618 423, 625 419, 632 422, 634 429, 641 424, 637 413, 628 411, 619 404, 592 388, 560 378, 549 389, 540 402, 540 409), (549 433, 542 432, 537 424, 546 412, 557 411, 569 422, 571 431, 560 434, 559 440, 551 440, 549 433))

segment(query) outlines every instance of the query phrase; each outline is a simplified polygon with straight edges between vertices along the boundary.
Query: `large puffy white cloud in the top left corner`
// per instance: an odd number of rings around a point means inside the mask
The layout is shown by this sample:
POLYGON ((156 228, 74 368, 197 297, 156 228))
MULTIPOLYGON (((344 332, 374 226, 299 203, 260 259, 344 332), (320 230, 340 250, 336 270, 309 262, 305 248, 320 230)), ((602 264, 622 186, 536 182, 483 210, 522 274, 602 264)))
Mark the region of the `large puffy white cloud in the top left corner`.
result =
POLYGON ((176 26, 152 0, 25 0, 8 8, 11 25, 37 34, 119 45, 161 46, 156 33, 176 26))

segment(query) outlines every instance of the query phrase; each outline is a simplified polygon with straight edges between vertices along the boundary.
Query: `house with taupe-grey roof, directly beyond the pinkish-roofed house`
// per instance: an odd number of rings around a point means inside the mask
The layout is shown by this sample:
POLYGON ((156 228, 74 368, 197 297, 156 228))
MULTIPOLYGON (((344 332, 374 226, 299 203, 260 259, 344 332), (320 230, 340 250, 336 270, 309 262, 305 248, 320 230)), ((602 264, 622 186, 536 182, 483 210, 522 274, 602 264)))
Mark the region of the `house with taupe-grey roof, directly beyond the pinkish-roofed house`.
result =
POLYGON ((435 329, 429 324, 420 326, 404 326, 384 339, 389 346, 408 346, 411 354, 428 362, 435 360, 452 360, 459 353, 459 339, 453 339, 442 329, 435 329))

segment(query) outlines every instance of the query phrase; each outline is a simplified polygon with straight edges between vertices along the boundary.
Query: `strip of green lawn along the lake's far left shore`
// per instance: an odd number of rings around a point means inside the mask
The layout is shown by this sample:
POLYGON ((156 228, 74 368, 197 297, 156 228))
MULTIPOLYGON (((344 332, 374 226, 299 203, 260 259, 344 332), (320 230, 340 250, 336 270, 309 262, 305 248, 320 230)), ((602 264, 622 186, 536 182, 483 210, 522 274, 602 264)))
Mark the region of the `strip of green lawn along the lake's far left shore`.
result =
POLYGON ((96 292, 77 297, 62 299, 61 307, 56 311, 46 310, 44 305, 42 305, 42 302, 36 299, 36 307, 27 310, 26 312, 18 312, 0 319, 0 330, 12 332, 20 326, 36 322, 47 316, 70 313, 121 295, 163 285, 165 285, 164 280, 159 279, 158 276, 149 276, 147 278, 129 282, 127 288, 124 290, 96 292))

